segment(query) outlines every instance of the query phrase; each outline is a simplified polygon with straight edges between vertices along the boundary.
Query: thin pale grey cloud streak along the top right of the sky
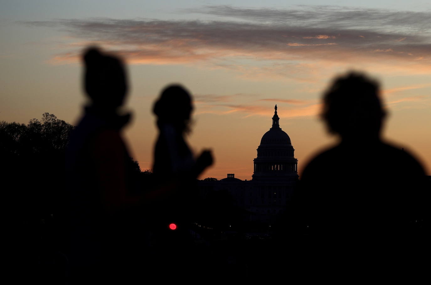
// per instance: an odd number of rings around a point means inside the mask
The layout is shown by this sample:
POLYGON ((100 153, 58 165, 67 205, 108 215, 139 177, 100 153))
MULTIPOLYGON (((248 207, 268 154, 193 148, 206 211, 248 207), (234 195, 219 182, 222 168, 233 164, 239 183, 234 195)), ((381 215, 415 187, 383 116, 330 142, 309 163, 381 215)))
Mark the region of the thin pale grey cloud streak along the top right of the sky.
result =
MULTIPOLYGON (((348 29, 382 29, 397 27, 399 30, 425 31, 429 29, 429 11, 411 12, 390 9, 367 9, 346 6, 290 6, 290 9, 242 8, 228 5, 205 6, 199 9, 183 9, 184 13, 201 13, 231 17, 250 22, 281 23, 293 26, 328 26, 348 29)), ((314 33, 312 35, 333 35, 333 33, 314 33)))

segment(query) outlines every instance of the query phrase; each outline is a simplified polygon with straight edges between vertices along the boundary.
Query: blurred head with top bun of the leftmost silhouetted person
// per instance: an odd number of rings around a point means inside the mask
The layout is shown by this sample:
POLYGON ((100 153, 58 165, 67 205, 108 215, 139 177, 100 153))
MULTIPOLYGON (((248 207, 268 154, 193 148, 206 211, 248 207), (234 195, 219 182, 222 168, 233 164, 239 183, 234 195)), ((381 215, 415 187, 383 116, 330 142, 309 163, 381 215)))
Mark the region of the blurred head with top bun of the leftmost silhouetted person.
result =
POLYGON ((121 106, 128 89, 122 61, 98 48, 88 48, 83 59, 84 88, 92 104, 108 109, 121 106))

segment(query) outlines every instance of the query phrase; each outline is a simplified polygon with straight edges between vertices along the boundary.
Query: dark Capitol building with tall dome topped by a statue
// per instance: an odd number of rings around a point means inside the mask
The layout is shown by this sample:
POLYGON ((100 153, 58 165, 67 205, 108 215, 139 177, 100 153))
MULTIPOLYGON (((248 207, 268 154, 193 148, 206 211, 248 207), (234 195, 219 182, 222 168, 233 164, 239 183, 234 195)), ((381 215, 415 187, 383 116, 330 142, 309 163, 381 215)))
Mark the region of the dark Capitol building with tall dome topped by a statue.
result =
POLYGON ((245 210, 250 222, 274 222, 286 208, 298 182, 295 149, 279 121, 275 105, 272 127, 262 136, 253 159, 252 180, 240 180, 235 174, 217 181, 202 180, 201 193, 228 192, 235 206, 245 210))

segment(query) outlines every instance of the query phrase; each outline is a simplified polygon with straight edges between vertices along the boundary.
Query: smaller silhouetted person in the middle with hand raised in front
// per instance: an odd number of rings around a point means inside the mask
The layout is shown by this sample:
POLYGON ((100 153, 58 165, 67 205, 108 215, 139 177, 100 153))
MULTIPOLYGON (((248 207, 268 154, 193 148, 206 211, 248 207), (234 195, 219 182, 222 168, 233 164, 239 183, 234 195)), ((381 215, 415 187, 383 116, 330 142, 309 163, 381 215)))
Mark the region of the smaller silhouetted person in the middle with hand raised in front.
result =
POLYGON ((176 274, 181 274, 182 277, 187 276, 187 272, 190 274, 193 272, 193 266, 187 263, 187 260, 192 260, 191 252, 187 252, 191 250, 192 240, 187 234, 193 222, 192 217, 198 215, 195 181, 202 171, 212 164, 210 151, 203 151, 195 159, 184 139, 190 130, 192 110, 190 94, 179 85, 170 85, 164 89, 153 108, 159 128, 154 150, 153 173, 159 183, 170 181, 176 188, 176 193, 159 206, 160 214, 157 221, 163 227, 167 227, 169 222, 178 224, 176 230, 178 234, 175 238, 159 236, 157 238, 162 242, 157 247, 163 247, 167 252, 166 257, 162 257, 166 258, 166 263, 161 261, 164 266, 170 270, 177 270, 176 274))

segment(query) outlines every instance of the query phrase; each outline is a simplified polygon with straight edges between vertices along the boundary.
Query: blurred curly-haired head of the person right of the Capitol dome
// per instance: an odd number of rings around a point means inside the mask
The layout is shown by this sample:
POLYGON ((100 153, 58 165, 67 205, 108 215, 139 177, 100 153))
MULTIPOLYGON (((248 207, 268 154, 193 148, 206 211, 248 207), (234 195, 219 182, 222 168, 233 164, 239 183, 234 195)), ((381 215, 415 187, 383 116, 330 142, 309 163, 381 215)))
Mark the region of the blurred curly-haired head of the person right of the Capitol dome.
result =
POLYGON ((334 79, 323 97, 323 114, 329 131, 343 140, 377 139, 385 112, 378 82, 350 72, 334 79))

